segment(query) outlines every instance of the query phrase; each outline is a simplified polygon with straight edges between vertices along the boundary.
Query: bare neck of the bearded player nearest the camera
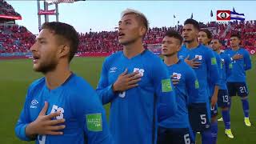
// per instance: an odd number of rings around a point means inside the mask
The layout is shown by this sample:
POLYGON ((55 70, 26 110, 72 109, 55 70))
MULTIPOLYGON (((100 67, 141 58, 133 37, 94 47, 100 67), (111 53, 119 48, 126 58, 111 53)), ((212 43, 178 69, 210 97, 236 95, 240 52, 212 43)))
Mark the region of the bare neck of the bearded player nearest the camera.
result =
POLYGON ((55 70, 49 71, 45 74, 46 76, 46 86, 50 90, 54 90, 58 86, 61 86, 66 79, 70 77, 71 71, 69 68, 69 64, 63 66, 62 64, 58 64, 55 70))

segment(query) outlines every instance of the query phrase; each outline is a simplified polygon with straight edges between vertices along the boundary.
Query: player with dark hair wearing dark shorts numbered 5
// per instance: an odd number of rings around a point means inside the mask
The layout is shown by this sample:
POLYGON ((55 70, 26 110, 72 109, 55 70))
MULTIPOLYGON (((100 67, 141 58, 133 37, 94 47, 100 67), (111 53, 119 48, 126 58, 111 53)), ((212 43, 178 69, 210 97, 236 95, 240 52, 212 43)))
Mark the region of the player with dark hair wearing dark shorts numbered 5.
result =
MULTIPOLYGON (((197 115, 199 119, 190 118, 192 129, 194 132, 201 132, 202 143, 212 143, 210 130, 210 90, 209 83, 216 85, 218 82, 218 66, 214 53, 208 47, 198 43, 199 24, 194 19, 187 19, 184 22, 182 36, 185 45, 178 52, 179 58, 184 58, 184 61, 189 64, 197 75, 199 82, 199 97, 201 104, 197 104, 189 109, 189 114, 197 115), (203 109, 202 109, 203 108, 203 109), (194 114, 195 109, 202 109, 202 113, 194 114), (205 110, 205 111, 203 111, 205 110)), ((215 101, 211 102, 214 106, 215 101)))

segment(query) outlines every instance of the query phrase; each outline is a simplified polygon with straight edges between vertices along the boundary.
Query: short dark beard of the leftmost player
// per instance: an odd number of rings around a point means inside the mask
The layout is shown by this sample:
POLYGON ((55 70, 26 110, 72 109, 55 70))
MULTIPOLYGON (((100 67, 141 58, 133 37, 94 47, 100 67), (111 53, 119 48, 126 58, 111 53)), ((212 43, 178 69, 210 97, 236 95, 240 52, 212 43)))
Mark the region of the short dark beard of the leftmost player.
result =
POLYGON ((47 72, 53 71, 56 69, 58 62, 54 59, 51 61, 39 63, 38 67, 34 68, 34 71, 42 72, 42 74, 46 74, 47 72))

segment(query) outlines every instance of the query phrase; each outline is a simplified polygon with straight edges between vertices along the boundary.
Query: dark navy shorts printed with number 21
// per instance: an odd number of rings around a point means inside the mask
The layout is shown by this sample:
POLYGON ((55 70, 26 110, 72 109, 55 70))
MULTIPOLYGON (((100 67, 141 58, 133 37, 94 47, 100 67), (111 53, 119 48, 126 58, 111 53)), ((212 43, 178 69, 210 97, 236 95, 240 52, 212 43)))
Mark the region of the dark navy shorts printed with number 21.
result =
POLYGON ((239 97, 246 97, 249 94, 246 82, 227 82, 226 86, 230 97, 237 94, 239 97))

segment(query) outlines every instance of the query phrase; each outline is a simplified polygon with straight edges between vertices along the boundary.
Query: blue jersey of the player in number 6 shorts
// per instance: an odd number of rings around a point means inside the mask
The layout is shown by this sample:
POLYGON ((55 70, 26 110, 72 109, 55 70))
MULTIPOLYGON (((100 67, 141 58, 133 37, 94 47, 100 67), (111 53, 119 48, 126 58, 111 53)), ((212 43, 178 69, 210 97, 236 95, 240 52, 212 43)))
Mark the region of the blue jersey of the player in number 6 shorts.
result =
POLYGON ((174 86, 176 102, 178 106, 174 116, 159 123, 164 128, 189 128, 188 106, 198 102, 198 79, 194 70, 179 60, 176 64, 167 66, 170 76, 176 74, 178 84, 174 86))

